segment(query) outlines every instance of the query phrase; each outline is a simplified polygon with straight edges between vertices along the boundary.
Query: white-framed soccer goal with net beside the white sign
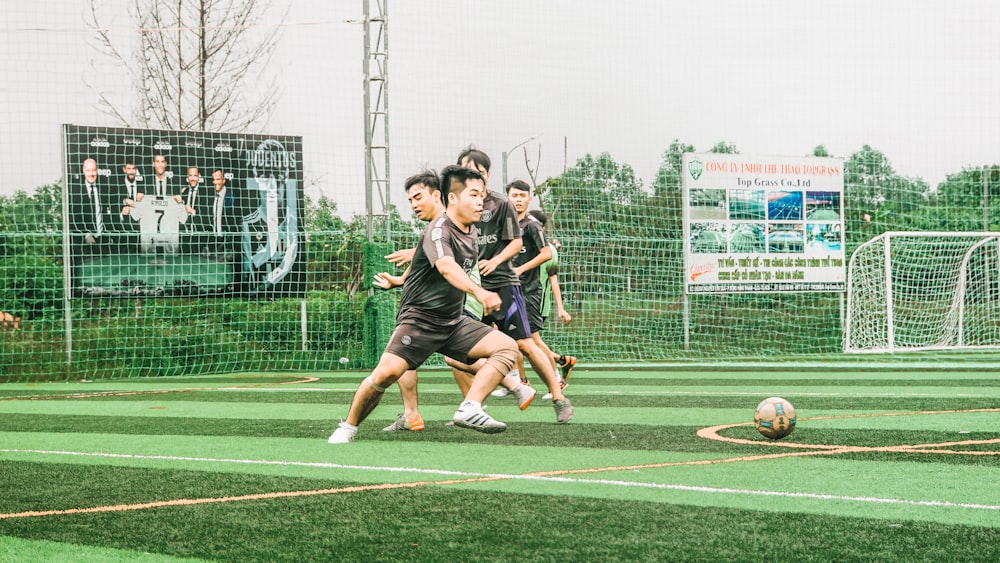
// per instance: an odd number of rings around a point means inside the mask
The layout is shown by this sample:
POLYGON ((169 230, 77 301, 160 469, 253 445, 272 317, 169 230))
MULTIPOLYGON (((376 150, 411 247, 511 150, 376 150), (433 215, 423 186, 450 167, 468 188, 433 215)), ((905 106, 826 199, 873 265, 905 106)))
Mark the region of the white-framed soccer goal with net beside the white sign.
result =
POLYGON ((845 352, 1000 348, 1000 233, 888 232, 847 270, 845 352))

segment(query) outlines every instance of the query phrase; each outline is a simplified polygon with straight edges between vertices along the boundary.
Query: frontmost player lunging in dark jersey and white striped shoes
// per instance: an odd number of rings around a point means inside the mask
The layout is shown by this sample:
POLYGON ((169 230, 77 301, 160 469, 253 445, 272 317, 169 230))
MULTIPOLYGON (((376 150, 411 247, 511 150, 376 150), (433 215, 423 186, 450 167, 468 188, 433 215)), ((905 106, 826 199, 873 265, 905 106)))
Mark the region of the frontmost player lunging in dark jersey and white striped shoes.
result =
POLYGON ((330 435, 331 444, 353 441, 358 425, 378 406, 386 387, 434 352, 464 360, 486 359, 452 417, 455 425, 488 434, 507 428, 483 411, 482 401, 514 365, 517 345, 462 315, 466 293, 474 294, 487 313, 501 304, 499 295, 479 287, 466 273, 477 266, 475 223, 482 214, 486 184, 474 170, 449 166, 442 171, 441 189, 447 210, 420 235, 413 262, 404 273, 396 330, 378 365, 358 386, 347 419, 330 435))

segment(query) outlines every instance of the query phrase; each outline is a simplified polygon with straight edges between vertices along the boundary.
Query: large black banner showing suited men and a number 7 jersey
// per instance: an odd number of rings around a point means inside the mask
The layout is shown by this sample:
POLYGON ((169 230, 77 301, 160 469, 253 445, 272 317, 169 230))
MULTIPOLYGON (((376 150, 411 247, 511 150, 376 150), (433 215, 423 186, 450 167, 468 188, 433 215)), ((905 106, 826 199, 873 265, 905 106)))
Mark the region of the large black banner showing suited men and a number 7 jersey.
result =
POLYGON ((63 136, 74 297, 305 295, 301 137, 63 136))

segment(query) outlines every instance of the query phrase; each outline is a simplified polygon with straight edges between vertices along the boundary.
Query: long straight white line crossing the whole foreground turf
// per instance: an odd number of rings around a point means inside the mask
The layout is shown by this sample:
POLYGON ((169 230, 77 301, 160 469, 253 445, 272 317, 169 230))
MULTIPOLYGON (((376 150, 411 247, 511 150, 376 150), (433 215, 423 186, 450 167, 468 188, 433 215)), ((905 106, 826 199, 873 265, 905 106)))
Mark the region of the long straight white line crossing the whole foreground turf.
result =
MULTIPOLYGON (((860 502, 860 503, 870 503, 870 504, 891 504, 891 505, 922 506, 922 507, 935 507, 935 508, 961 508, 961 509, 1000 511, 1000 505, 994 505, 994 504, 950 502, 950 501, 939 501, 939 500, 909 500, 909 499, 869 497, 869 496, 844 496, 844 495, 802 493, 802 492, 789 492, 789 491, 766 491, 766 490, 762 491, 755 489, 733 489, 728 487, 702 487, 702 486, 679 485, 670 483, 621 481, 614 479, 579 479, 574 477, 559 477, 551 475, 543 476, 543 475, 530 475, 530 474, 517 475, 517 474, 504 474, 504 473, 476 473, 467 471, 449 471, 443 469, 426 469, 417 467, 345 465, 345 464, 327 463, 327 462, 282 461, 282 460, 264 460, 264 459, 229 459, 229 458, 204 458, 204 457, 187 457, 187 456, 136 455, 136 454, 116 454, 107 452, 22 450, 22 449, 11 449, 11 448, 0 449, 0 453, 102 457, 102 458, 116 458, 116 459, 134 459, 134 460, 183 461, 183 462, 213 463, 213 464, 228 463, 228 464, 242 464, 242 465, 315 467, 322 469, 347 469, 347 470, 371 471, 371 472, 418 473, 418 474, 429 474, 429 475, 443 475, 449 477, 461 477, 466 479, 546 481, 546 482, 583 484, 583 485, 605 485, 605 486, 625 487, 625 488, 635 487, 635 488, 646 488, 646 489, 699 492, 699 493, 721 494, 721 495, 782 497, 782 498, 813 499, 813 500, 837 501, 837 502, 849 501, 849 502, 860 502)), ((431 482, 429 484, 434 484, 434 483, 431 482)), ((316 494, 326 494, 326 492, 318 491, 316 494)), ((2 518, 3 516, 5 515, 0 515, 0 518, 2 518)))

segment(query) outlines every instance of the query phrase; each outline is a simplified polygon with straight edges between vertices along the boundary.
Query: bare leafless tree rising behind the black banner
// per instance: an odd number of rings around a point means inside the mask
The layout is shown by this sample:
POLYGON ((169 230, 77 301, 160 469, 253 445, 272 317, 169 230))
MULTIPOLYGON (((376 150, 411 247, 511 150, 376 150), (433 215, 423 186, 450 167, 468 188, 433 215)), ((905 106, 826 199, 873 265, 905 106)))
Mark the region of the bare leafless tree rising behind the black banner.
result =
POLYGON ((88 23, 137 97, 130 118, 125 104, 102 92, 106 114, 153 129, 249 131, 267 123, 280 90, 275 76, 262 77, 287 11, 279 25, 261 27, 270 6, 263 0, 136 0, 128 16, 138 38, 129 52, 101 24, 99 5, 91 0, 88 23))

